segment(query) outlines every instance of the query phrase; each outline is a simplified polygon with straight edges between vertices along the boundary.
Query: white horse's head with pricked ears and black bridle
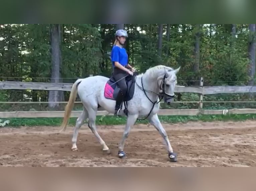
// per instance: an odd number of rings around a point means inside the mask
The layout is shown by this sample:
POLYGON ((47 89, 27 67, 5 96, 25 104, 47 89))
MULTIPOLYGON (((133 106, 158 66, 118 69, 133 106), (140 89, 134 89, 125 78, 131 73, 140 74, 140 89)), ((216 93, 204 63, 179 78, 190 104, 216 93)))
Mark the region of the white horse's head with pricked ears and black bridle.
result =
POLYGON ((173 102, 174 98, 174 89, 177 84, 176 74, 179 72, 180 67, 176 70, 165 69, 163 75, 160 75, 157 78, 157 83, 160 88, 160 96, 164 98, 164 102, 168 105, 173 102))

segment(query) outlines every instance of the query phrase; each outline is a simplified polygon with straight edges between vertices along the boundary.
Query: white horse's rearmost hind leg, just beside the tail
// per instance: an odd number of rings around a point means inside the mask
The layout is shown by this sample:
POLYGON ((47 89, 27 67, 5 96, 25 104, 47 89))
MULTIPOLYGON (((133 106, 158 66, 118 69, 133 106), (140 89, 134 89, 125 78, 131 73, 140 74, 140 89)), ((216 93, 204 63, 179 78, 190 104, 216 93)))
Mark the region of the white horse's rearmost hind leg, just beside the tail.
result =
POLYGON ((88 118, 88 111, 84 107, 83 112, 80 114, 80 116, 77 118, 76 125, 73 131, 73 137, 72 137, 72 150, 73 151, 78 151, 77 148, 77 137, 78 137, 78 132, 84 121, 88 118))

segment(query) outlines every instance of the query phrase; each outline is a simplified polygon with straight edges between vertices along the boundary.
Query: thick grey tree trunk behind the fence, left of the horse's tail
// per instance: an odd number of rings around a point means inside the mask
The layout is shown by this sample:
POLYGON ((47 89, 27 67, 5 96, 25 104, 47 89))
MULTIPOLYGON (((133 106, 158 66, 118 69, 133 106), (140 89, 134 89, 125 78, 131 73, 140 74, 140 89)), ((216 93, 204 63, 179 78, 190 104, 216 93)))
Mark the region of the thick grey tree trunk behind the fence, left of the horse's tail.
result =
MULTIPOLYGON (((60 42, 59 24, 50 24, 51 40, 51 83, 59 83, 60 78, 60 42)), ((59 101, 58 91, 49 91, 48 101, 59 101)), ((59 106, 58 103, 49 103, 49 108, 59 106)))

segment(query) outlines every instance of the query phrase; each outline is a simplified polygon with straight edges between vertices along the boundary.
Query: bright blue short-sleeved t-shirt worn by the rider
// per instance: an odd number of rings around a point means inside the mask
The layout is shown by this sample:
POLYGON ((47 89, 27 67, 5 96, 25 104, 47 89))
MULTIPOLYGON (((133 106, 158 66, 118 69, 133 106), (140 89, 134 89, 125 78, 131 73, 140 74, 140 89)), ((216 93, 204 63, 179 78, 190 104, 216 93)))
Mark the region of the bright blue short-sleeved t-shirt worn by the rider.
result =
POLYGON ((111 52, 112 65, 115 66, 115 62, 119 62, 122 66, 128 64, 128 54, 125 48, 120 48, 119 46, 114 46, 111 52))

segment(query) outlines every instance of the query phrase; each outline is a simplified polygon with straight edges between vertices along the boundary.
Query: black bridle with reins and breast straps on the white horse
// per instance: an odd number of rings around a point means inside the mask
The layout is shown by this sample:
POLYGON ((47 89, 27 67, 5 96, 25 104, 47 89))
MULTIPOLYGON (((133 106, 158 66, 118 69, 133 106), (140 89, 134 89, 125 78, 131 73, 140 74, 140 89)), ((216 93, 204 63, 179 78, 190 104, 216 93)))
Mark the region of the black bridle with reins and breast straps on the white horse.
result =
POLYGON ((146 95, 146 97, 148 98, 148 100, 149 100, 151 103, 153 103, 153 106, 152 106, 152 108, 150 109, 150 112, 148 113, 148 115, 147 115, 145 118, 143 118, 143 119, 139 119, 139 118, 138 118, 138 120, 144 120, 144 119, 146 119, 146 118, 151 114, 151 112, 152 112, 152 110, 153 110, 155 104, 159 103, 159 102, 163 99, 164 96, 167 96, 168 99, 174 97, 174 95, 169 95, 169 94, 167 94, 167 93, 165 92, 165 86, 166 86, 166 84, 165 84, 164 81, 165 81, 165 79, 166 79, 166 74, 164 75, 164 77, 163 77, 163 79, 162 79, 162 82, 161 82, 161 85, 160 85, 160 90, 162 90, 162 92, 159 93, 159 94, 157 94, 157 93, 155 93, 155 92, 153 92, 153 91, 150 91, 150 90, 145 90, 145 89, 144 89, 144 86, 143 86, 142 78, 143 78, 143 77, 141 77, 141 86, 142 86, 142 87, 140 87, 136 81, 135 81, 135 82, 136 82, 137 86, 144 92, 144 94, 146 95), (153 94, 158 95, 159 101, 157 101, 157 99, 156 99, 156 100, 153 102, 153 101, 147 96, 146 92, 149 92, 149 93, 153 93, 153 94))

